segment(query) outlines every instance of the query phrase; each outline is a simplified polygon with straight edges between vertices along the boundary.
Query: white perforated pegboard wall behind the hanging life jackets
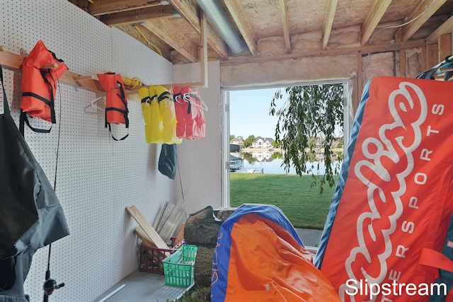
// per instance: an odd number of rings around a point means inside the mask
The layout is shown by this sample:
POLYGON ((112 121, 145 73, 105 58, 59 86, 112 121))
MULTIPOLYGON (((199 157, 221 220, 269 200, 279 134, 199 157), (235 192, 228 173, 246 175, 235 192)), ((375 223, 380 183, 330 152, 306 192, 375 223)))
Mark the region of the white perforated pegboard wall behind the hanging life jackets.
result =
MULTIPOLYGON (((26 55, 42 40, 78 74, 114 70, 149 83, 169 83, 173 76, 166 59, 69 1, 0 0, 0 23, 0 45, 8 51, 26 55)), ((4 77, 18 124, 21 72, 4 69, 4 77)), ((60 83, 57 124, 50 134, 25 128, 25 139, 52 185, 57 177, 55 189, 71 232, 52 244, 51 277, 66 284, 52 294, 52 301, 93 301, 137 269, 132 233, 137 223, 125 207, 136 204, 152 222, 161 204, 174 199, 173 181, 157 170, 160 146, 144 139, 140 103, 128 102, 129 137, 114 141, 104 127, 104 112, 84 111, 98 96, 60 83)), ((116 135, 127 132, 124 124, 114 128, 116 135)), ((25 281, 33 302, 42 301, 47 250, 36 252, 25 281)))

